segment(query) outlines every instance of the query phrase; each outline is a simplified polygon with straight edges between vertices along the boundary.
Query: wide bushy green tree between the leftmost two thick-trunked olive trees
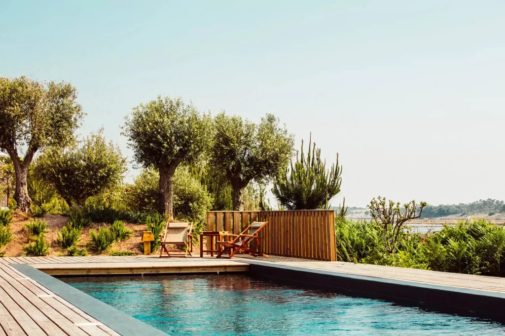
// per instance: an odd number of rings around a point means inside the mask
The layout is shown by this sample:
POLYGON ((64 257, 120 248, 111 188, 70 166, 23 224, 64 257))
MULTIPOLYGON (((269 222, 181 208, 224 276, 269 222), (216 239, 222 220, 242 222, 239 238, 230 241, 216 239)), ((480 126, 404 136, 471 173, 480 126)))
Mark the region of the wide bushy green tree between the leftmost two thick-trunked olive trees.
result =
POLYGON ((80 145, 48 148, 37 159, 34 171, 52 183, 68 204, 84 205, 88 197, 122 182, 127 160, 112 141, 107 143, 100 129, 80 145))

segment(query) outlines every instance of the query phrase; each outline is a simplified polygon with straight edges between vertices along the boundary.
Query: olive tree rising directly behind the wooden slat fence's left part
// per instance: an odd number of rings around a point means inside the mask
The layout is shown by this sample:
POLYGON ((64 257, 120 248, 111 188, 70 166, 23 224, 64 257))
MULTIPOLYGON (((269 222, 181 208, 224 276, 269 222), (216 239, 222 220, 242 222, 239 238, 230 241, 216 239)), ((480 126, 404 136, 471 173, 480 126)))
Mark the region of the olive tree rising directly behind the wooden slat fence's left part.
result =
POLYGON ((279 119, 267 114, 259 124, 221 112, 216 129, 212 166, 221 170, 233 188, 233 210, 244 209, 243 190, 251 180, 265 182, 283 171, 293 153, 293 136, 279 119))

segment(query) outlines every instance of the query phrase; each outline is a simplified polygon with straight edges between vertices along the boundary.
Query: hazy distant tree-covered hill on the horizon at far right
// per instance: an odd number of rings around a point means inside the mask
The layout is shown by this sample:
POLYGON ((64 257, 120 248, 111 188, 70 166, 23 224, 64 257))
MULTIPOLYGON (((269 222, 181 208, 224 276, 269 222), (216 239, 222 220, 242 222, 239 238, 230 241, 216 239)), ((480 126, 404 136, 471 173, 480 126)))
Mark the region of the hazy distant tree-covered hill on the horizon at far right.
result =
POLYGON ((505 213, 505 203, 497 199, 480 199, 469 204, 452 204, 429 206, 423 209, 421 218, 445 217, 450 215, 470 216, 487 213, 492 216, 496 213, 505 213))

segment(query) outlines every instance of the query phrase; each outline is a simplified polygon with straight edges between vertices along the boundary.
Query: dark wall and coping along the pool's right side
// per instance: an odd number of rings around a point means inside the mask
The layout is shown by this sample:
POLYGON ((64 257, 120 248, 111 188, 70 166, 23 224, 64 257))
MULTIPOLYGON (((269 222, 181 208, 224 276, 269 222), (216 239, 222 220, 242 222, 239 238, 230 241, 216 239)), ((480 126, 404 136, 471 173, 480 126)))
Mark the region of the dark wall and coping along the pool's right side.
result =
POLYGON ((249 264, 249 274, 284 283, 337 290, 360 297, 385 299, 400 304, 423 306, 469 316, 505 321, 505 293, 430 285, 414 281, 360 276, 257 260, 236 260, 249 264), (409 303, 410 302, 410 303, 409 303))

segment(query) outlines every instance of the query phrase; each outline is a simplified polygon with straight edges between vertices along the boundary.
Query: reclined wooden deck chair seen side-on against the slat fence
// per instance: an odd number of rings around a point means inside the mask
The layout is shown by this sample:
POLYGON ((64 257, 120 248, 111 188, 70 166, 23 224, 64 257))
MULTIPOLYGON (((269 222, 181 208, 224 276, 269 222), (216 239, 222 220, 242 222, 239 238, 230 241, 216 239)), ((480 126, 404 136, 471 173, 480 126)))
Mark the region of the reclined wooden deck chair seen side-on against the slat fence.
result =
POLYGON ((260 239, 258 237, 258 233, 267 226, 268 222, 254 222, 251 225, 249 225, 244 231, 242 231, 241 234, 239 235, 228 235, 231 237, 235 237, 235 239, 231 241, 218 241, 217 243, 221 245, 223 248, 221 252, 216 256, 216 258, 221 258, 223 253, 228 251, 229 255, 228 258, 231 258, 238 252, 243 252, 255 257, 258 256, 264 256, 265 258, 268 258, 268 255, 259 253, 257 251, 252 251, 250 247, 247 246, 248 243, 256 239, 257 246, 260 245, 260 239))

